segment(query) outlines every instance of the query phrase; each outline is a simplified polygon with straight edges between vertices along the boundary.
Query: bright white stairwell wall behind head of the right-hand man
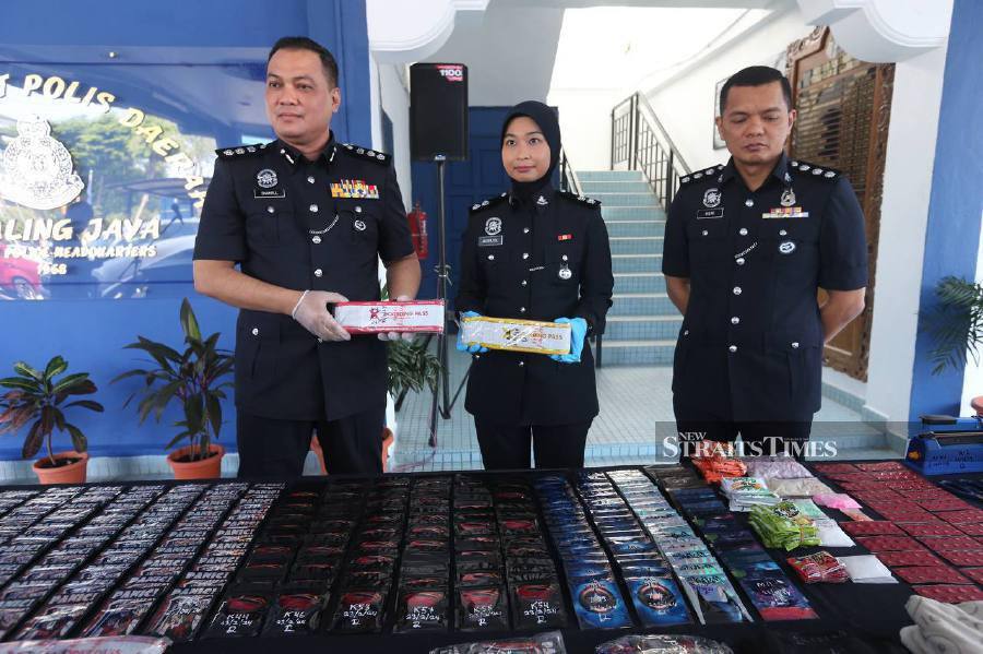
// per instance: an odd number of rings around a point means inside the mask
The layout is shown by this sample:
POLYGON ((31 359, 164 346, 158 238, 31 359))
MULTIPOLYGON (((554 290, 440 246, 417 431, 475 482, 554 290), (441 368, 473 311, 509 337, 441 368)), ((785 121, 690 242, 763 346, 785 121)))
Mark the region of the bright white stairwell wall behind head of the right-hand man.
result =
POLYGON ((649 92, 652 109, 691 169, 722 164, 730 156, 724 148, 713 150, 716 83, 748 66, 772 66, 789 44, 812 31, 797 9, 775 12, 730 47, 649 92))

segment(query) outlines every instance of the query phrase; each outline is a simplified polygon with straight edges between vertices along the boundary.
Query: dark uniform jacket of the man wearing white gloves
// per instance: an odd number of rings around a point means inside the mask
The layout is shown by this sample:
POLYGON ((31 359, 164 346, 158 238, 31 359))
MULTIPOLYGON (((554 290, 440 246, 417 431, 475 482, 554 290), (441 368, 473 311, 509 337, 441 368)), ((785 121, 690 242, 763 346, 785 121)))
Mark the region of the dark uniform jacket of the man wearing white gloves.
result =
MULTIPOLYGON (((194 259, 235 261, 294 290, 378 300, 378 257, 413 252, 388 155, 333 134, 310 162, 282 141, 217 151, 194 259)), ((249 414, 334 420, 386 403, 386 343, 320 342, 289 316, 242 309, 236 405, 249 414)))

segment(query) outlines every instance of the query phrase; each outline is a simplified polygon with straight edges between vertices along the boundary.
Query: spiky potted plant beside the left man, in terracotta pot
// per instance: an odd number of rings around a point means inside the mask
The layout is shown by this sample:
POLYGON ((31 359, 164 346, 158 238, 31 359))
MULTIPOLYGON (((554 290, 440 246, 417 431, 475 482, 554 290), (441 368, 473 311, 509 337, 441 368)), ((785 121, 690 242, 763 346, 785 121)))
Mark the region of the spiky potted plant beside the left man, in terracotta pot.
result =
POLYGON ((191 302, 185 298, 180 310, 181 331, 185 333, 185 350, 137 336, 128 349, 140 349, 150 355, 152 367, 129 370, 116 377, 114 383, 130 377, 143 378, 142 389, 131 394, 123 406, 141 395, 137 411, 140 424, 154 414, 159 423, 164 409, 176 402, 181 406, 183 419, 175 423, 180 431, 165 445, 170 449, 187 441, 167 455, 167 463, 177 479, 211 479, 221 476, 225 449, 218 443, 222 428, 222 400, 224 389, 233 385, 227 377, 233 370, 232 353, 218 349, 218 333, 202 338, 198 319, 191 302))

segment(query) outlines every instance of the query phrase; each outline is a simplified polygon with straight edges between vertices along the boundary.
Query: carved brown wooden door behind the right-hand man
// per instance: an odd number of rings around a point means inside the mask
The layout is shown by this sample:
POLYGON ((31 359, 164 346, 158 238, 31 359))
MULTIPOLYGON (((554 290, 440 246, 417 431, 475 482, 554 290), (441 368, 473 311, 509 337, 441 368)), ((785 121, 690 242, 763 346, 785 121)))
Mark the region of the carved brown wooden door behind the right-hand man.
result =
POLYGON ((842 170, 864 210, 866 308, 827 345, 824 360, 866 381, 895 66, 860 61, 837 46, 828 27, 817 27, 789 46, 786 72, 798 110, 789 155, 842 170))

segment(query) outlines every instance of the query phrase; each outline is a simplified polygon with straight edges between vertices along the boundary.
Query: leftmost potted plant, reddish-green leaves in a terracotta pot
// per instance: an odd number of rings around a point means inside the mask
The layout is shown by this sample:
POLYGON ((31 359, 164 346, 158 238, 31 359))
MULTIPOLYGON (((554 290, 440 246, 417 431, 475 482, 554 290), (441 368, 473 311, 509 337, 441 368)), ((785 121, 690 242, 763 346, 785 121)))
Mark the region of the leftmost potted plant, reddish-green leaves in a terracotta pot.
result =
POLYGON ((72 406, 103 412, 103 405, 93 400, 79 400, 98 389, 88 379, 88 372, 67 374, 68 361, 51 357, 44 371, 24 361, 14 364, 16 377, 0 379, 0 387, 10 389, 0 396, 0 433, 12 433, 31 423, 24 439, 22 456, 31 459, 42 444, 48 455, 32 466, 42 484, 82 484, 88 463, 88 441, 82 430, 68 423, 64 409, 72 406), (61 379, 57 379, 62 374, 61 379), (68 400, 72 399, 71 402, 68 400), (55 453, 51 438, 55 430, 67 431, 72 439, 73 451, 55 453))

